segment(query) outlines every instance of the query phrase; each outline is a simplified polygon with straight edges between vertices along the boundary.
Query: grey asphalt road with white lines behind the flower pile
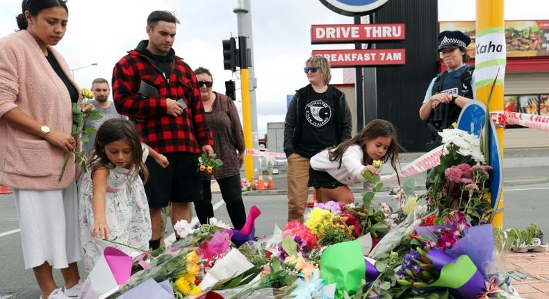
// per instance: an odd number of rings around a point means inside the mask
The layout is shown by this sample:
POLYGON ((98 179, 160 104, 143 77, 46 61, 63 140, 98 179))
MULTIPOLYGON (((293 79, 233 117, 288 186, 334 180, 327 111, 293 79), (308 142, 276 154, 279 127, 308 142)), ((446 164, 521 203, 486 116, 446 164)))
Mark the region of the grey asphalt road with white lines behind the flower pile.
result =
MULTIPOLYGON (((507 186, 504 190, 505 227, 523 229, 530 223, 537 223, 549 236, 549 184, 507 186)), ((359 200, 360 195, 356 196, 359 200)), ((256 222, 257 236, 270 236, 275 225, 283 227, 286 223, 286 195, 247 195, 244 201, 247 209, 252 205, 261 209, 262 214, 256 222)), ((218 203, 215 204, 218 207, 215 216, 230 223, 220 194, 213 195, 213 202, 218 203)), ((379 193, 373 204, 381 202, 391 204, 391 196, 379 193)), ((40 297, 32 270, 24 270, 18 228, 13 195, 0 195, 0 299, 40 297)), ((54 277, 58 285, 63 285, 58 270, 54 270, 54 277)))

